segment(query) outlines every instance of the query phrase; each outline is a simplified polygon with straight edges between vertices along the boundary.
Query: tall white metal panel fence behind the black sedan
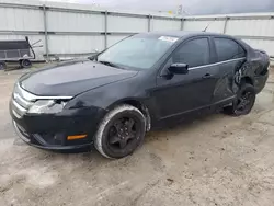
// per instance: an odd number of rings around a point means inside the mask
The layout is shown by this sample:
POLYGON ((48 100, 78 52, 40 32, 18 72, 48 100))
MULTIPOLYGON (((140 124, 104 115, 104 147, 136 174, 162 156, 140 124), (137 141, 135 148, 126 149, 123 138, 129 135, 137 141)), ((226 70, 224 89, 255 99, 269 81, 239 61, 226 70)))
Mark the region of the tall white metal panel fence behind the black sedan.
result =
POLYGON ((185 30, 238 36, 274 57, 274 13, 178 18, 80 4, 0 0, 0 39, 42 39, 37 59, 87 56, 139 32, 185 30), (20 2, 20 3, 19 3, 20 2))

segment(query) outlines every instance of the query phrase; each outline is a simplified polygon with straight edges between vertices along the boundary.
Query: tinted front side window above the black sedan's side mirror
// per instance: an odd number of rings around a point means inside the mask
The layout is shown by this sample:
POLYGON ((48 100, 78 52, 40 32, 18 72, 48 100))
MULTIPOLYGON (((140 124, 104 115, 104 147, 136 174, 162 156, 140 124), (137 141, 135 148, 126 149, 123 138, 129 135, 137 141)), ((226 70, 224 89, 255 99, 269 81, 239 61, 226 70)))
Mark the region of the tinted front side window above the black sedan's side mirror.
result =
POLYGON ((184 62, 189 67, 209 64, 209 44, 207 38, 190 41, 181 46, 172 56, 172 62, 184 62))

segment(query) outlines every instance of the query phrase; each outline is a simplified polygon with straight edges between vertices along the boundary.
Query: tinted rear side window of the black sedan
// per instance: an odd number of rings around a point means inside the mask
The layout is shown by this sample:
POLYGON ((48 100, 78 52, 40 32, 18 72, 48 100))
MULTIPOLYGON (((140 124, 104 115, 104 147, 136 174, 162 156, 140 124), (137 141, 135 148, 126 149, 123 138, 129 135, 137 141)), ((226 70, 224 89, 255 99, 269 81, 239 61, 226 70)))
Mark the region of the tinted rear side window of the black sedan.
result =
POLYGON ((237 42, 228 38, 214 38, 218 61, 246 57, 246 52, 237 42))

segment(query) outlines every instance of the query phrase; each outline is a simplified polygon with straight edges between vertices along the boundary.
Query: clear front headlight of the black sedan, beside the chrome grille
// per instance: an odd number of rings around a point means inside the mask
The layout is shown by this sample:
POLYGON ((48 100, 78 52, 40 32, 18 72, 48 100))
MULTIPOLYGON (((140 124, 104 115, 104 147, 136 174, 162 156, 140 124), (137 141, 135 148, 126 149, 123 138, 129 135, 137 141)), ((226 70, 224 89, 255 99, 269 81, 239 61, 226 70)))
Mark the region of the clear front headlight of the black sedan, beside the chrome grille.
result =
POLYGON ((55 114, 62 111, 65 101, 38 100, 27 111, 31 114, 55 114))

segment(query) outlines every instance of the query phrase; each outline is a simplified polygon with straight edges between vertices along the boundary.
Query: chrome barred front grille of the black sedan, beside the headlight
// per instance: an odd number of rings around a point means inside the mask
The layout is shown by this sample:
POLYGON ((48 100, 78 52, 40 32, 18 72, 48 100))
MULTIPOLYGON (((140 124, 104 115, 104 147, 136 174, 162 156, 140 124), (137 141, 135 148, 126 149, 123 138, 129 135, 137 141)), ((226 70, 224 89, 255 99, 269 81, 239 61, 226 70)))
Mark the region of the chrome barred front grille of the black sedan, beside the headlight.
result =
POLYGON ((12 93, 12 113, 18 118, 21 118, 28 108, 34 104, 34 95, 23 90, 19 83, 15 84, 12 93))

